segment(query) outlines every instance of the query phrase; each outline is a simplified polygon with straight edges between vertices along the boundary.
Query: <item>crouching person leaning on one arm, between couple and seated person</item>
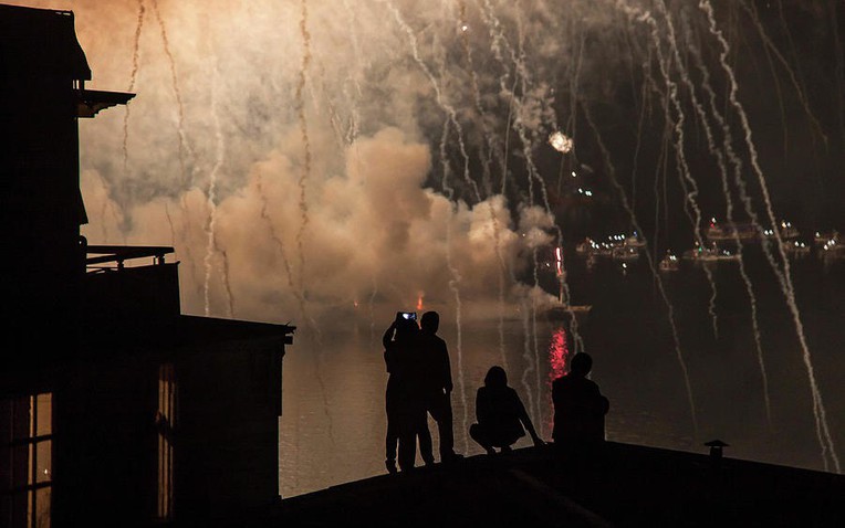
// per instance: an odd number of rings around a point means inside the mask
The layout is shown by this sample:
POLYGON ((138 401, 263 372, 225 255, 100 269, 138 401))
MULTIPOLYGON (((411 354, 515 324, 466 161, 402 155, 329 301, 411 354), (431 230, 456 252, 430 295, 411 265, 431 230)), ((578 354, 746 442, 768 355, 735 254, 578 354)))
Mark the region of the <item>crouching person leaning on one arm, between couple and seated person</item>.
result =
POLYGON ((544 444, 534 431, 519 394, 508 387, 508 374, 499 366, 490 368, 484 386, 478 389, 476 418, 478 423, 469 427, 469 435, 490 455, 495 453, 493 447, 499 447, 502 453, 510 452, 511 445, 525 436, 525 430, 534 445, 544 444))

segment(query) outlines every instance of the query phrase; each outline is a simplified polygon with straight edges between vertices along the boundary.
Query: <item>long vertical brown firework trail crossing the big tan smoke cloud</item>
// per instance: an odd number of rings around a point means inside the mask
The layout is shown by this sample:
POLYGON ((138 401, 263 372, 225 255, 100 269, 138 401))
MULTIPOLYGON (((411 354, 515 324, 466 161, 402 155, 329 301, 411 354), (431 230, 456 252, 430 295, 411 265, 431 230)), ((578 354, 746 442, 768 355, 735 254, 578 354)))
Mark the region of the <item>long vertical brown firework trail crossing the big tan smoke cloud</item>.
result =
POLYGON ((306 82, 306 75, 309 65, 311 64, 311 33, 309 32, 307 23, 309 23, 309 7, 307 7, 307 0, 302 0, 301 2, 301 19, 300 19, 300 35, 302 36, 302 63, 300 65, 300 73, 296 82, 296 94, 295 94, 295 101, 296 101, 296 112, 300 123, 300 133, 302 134, 302 142, 304 148, 304 161, 303 161, 303 168, 302 173, 300 176, 300 179, 298 181, 299 188, 300 188, 300 212, 302 214, 302 220, 300 222, 300 229, 296 232, 296 250, 299 251, 300 256, 300 275, 299 275, 299 291, 300 291, 300 297, 302 299, 302 303, 304 305, 305 303, 305 284, 304 284, 304 277, 305 277, 305 249, 303 244, 303 236, 305 234, 305 229, 309 224, 309 205, 305 201, 305 191, 306 191, 306 184, 307 180, 311 177, 311 141, 309 139, 309 124, 307 119, 305 118, 305 101, 303 91, 305 89, 305 82, 306 82))

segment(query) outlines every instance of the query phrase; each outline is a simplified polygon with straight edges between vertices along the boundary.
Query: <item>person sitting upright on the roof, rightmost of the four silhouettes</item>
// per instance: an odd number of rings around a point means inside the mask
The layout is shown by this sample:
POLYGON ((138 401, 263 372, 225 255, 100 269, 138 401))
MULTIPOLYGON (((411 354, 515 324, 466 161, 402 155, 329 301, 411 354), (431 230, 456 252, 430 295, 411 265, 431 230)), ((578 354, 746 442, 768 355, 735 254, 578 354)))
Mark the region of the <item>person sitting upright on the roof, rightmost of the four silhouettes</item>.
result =
POLYGON ((572 358, 570 373, 552 382, 552 439, 563 453, 584 453, 604 443, 604 416, 611 404, 586 377, 593 368, 588 353, 572 358))

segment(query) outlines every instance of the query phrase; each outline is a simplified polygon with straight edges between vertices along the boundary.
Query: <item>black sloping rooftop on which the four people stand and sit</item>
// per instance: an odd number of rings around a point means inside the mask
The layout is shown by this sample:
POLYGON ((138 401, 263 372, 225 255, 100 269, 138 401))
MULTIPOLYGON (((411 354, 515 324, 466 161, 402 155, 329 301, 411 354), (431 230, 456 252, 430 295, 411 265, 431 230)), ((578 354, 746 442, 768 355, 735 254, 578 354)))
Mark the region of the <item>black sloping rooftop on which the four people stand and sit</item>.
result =
POLYGON ((832 527, 845 476, 617 443, 574 465, 545 446, 343 484, 236 524, 832 527))

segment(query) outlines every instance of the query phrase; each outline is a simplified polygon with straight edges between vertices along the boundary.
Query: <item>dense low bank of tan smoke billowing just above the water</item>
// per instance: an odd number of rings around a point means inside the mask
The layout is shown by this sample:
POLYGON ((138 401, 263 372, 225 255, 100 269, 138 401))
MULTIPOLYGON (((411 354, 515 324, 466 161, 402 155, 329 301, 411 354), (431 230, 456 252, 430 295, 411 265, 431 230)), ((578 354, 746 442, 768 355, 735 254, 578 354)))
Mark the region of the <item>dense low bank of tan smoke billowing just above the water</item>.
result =
MULTIPOLYGON (((299 139, 295 131, 291 134, 286 149, 280 146, 253 163, 246 184, 217 204, 216 240, 228 258, 237 297, 234 314, 239 317, 289 320, 298 315, 299 304, 290 292, 279 251, 280 245, 289 252, 295 250, 299 230, 298 215, 291 214, 299 211, 299 172, 291 155, 285 154, 295 150, 299 139), (261 214, 264 200, 273 204, 265 218, 261 214)), ((551 219, 536 208, 525 209, 517 226, 501 196, 470 208, 425 188, 431 170, 430 151, 426 145, 409 141, 397 128, 357 138, 343 157, 344 169, 323 178, 309 197, 306 268, 289 263, 293 283, 304 274, 305 296, 321 308, 363 307, 374 284, 378 285, 379 299, 393 306, 413 308, 420 293, 428 303, 448 303, 447 224, 452 233, 451 252, 461 270, 461 291, 476 300, 497 295, 490 287, 501 273, 497 230, 510 268, 519 270, 524 249, 551 242, 545 231, 551 219)), ((210 211, 200 189, 121 208, 107 197, 97 172, 84 171, 82 184, 92 224, 105 226, 102 234, 86 230, 91 239, 123 242, 119 237, 126 233, 128 243, 175 243, 177 250, 204 247, 205 219, 210 211), (118 228, 125 215, 132 218, 132 228, 122 231, 118 228)), ((218 282, 211 285, 212 305, 220 313, 225 311, 226 295, 221 258, 218 255, 218 282)), ((182 261, 188 309, 201 306, 202 265, 201 256, 182 261)), ((515 287, 511 294, 523 292, 515 287)))

